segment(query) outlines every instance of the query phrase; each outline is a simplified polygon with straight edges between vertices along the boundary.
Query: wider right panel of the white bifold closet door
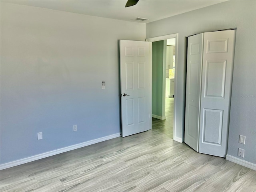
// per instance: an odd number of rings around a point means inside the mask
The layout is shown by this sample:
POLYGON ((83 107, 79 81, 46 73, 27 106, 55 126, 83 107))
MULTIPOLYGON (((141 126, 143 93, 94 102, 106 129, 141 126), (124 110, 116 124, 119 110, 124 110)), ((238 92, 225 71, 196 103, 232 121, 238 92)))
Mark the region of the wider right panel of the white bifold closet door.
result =
POLYGON ((236 30, 204 34, 199 152, 226 157, 236 30))

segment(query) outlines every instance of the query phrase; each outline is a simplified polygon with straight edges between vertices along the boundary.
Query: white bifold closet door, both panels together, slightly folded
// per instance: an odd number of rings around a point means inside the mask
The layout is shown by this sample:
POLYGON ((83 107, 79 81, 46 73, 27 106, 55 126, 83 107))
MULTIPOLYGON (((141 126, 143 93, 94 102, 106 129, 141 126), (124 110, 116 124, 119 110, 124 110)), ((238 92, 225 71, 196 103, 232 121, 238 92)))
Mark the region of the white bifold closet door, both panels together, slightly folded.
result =
POLYGON ((185 143, 200 153, 227 154, 235 36, 225 30, 188 38, 185 143))

